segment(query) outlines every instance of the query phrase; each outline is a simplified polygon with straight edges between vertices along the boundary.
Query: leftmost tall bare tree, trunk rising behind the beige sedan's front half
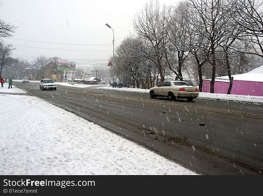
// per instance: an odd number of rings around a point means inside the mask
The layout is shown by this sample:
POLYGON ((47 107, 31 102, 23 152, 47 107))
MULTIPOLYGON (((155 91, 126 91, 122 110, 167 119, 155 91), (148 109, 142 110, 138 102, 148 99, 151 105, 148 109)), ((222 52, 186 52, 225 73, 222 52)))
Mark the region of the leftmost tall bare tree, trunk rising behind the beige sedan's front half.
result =
POLYGON ((159 69, 161 82, 164 81, 164 47, 166 43, 167 8, 163 5, 160 9, 158 1, 145 4, 140 13, 135 16, 133 25, 137 35, 147 41, 148 50, 143 50, 142 55, 151 60, 159 69))

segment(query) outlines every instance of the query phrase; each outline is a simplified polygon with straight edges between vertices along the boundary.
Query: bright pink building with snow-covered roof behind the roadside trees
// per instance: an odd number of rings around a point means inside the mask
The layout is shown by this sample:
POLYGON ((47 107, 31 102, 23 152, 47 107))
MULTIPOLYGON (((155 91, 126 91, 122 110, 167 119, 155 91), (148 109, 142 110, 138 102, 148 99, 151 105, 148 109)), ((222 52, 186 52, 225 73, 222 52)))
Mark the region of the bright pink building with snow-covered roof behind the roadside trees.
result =
MULTIPOLYGON (((232 75, 234 77, 230 94, 263 96, 263 65, 242 74, 232 75)), ((210 93, 211 79, 203 79, 202 92, 210 93)), ((228 76, 216 77, 214 93, 227 94, 229 87, 228 76)))

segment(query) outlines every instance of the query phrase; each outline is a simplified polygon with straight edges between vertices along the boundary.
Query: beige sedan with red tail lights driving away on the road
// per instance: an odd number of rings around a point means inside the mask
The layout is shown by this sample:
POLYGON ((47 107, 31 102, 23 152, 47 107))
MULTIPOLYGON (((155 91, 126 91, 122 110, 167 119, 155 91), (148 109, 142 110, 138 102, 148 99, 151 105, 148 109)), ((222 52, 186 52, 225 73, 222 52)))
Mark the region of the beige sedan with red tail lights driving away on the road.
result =
POLYGON ((188 85, 182 81, 164 81, 156 87, 150 88, 151 98, 157 96, 168 97, 169 100, 175 98, 186 98, 188 101, 192 101, 198 97, 198 89, 194 86, 188 85))

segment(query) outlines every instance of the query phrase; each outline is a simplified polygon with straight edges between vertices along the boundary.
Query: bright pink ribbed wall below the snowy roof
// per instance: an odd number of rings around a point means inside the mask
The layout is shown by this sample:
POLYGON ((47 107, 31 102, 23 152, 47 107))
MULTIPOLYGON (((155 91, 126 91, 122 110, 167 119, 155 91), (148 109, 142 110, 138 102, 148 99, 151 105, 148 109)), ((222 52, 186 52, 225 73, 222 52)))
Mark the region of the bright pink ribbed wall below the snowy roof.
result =
MULTIPOLYGON (((227 94, 229 82, 215 81, 214 93, 227 94)), ((202 92, 210 93, 210 80, 203 80, 202 92)), ((232 95, 263 96, 263 82, 234 80, 232 95)))

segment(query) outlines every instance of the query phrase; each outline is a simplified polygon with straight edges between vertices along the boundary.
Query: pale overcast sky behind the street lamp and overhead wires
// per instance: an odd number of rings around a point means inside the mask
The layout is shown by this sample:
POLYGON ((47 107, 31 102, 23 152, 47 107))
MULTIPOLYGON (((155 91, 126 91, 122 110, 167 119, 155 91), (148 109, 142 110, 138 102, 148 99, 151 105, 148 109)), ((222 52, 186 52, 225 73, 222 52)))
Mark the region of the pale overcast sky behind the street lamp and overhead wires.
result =
MULTIPOLYGON (((105 24, 108 23, 114 30, 114 48, 116 48, 129 35, 129 32, 133 31, 134 15, 143 8, 146 2, 149 2, 149 0, 0 1, 2 2, 0 18, 17 27, 13 37, 2 38, 5 44, 13 44, 16 48, 13 57, 23 57, 32 61, 32 57, 40 55, 58 56, 77 61, 77 64, 94 62, 93 60, 107 62, 113 54, 113 31, 105 24), (17 39, 69 44, 101 44, 102 46, 61 45, 17 39), (87 59, 87 61, 80 61, 80 59, 87 59)), ((175 5, 178 0, 160 0, 159 2, 175 5)))

